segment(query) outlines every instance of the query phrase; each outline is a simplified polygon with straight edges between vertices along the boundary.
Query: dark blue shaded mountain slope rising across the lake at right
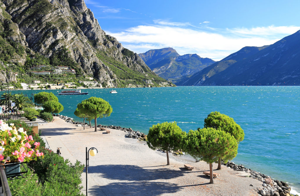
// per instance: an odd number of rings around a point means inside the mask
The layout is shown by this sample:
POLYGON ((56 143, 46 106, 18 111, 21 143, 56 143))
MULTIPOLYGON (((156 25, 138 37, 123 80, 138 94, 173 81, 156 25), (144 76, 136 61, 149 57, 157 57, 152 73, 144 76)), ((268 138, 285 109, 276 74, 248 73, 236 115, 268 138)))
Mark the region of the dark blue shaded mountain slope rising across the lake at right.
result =
POLYGON ((297 31, 272 45, 244 47, 177 85, 300 85, 299 45, 297 31))

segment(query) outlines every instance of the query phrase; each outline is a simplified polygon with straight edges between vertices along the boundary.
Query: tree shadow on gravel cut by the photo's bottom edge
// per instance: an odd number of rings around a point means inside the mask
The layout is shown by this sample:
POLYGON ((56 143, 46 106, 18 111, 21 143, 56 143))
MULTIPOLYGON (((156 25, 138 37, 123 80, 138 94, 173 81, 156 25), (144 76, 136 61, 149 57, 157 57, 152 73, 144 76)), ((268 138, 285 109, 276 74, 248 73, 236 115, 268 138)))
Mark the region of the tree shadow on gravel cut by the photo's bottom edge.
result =
POLYGON ((89 193, 93 195, 161 195, 172 194, 183 189, 176 184, 166 182, 115 182, 104 186, 93 186, 89 193))

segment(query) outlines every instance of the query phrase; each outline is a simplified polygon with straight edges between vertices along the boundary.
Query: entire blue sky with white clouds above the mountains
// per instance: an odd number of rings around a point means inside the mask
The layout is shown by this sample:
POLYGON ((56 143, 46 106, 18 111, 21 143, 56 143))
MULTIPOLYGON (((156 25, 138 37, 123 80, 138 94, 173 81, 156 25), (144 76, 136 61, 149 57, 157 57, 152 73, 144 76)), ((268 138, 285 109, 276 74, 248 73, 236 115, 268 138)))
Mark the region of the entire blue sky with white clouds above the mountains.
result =
POLYGON ((136 53, 171 47, 219 61, 300 30, 299 0, 85 0, 101 28, 136 53))

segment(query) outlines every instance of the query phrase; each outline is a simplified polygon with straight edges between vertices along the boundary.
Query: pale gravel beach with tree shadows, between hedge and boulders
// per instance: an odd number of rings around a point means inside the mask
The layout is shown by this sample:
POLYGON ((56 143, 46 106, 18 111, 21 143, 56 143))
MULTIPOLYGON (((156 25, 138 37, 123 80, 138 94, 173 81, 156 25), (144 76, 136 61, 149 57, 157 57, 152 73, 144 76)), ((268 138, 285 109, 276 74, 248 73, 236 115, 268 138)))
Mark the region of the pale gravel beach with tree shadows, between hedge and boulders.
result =
MULTIPOLYGON (((234 171, 222 165, 220 176, 209 184, 209 171, 205 162, 186 160, 150 149, 146 142, 125 138, 125 132, 116 129, 94 132, 94 128, 77 127, 59 117, 39 126, 53 151, 59 147, 61 156, 71 163, 85 164, 85 147, 95 147, 98 154, 89 157, 89 195, 259 195, 259 180, 243 177, 247 173, 234 171), (188 163, 193 170, 184 168, 188 163), (241 175, 241 176, 239 176, 241 175)), ((217 168, 217 164, 213 165, 217 168)), ((85 170, 82 173, 82 193, 85 194, 85 170)))

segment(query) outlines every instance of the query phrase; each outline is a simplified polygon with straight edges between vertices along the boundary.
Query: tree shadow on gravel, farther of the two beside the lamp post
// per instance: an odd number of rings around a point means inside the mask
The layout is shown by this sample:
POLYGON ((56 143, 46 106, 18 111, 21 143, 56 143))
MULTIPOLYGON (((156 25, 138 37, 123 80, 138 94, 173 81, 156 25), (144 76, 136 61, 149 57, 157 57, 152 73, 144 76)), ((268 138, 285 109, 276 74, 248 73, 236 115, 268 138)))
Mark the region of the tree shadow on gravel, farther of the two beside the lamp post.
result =
MULTIPOLYGON (((173 179, 184 176, 184 171, 170 170, 168 168, 144 169, 136 165, 98 165, 90 166, 89 173, 99 173, 107 179, 150 181, 157 179, 173 179)), ((187 171, 188 172, 188 171, 187 171)))

